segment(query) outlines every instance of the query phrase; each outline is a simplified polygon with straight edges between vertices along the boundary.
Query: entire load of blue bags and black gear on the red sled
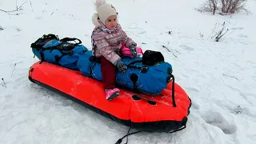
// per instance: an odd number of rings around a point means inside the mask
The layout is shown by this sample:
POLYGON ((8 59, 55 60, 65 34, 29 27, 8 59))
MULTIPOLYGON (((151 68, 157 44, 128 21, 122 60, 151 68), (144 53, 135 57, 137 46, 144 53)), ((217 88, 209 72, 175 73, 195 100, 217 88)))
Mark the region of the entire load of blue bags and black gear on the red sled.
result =
MULTIPOLYGON (((80 70, 87 77, 102 81, 101 62, 81 43, 78 38, 59 39, 57 35, 45 34, 32 43, 31 48, 41 62, 80 70)), ((126 74, 116 70, 116 84, 127 90, 158 95, 166 88, 170 79, 173 79, 174 84, 172 66, 164 62, 161 52, 146 50, 142 57, 123 57, 122 62, 128 69, 126 74)), ((172 95, 174 98, 174 94, 172 95)))

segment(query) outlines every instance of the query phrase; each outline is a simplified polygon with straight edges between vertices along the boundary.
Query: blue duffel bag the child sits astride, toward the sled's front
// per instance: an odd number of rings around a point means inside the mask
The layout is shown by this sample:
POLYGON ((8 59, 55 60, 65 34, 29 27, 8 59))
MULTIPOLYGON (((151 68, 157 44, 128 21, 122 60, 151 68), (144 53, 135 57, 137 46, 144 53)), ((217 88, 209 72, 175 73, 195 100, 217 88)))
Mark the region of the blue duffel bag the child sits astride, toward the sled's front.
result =
MULTIPOLYGON (((172 78, 172 66, 168 62, 160 62, 150 66, 142 63, 142 58, 122 58, 128 66, 126 74, 116 73, 116 83, 128 90, 137 90, 144 94, 160 94, 172 78)), ((102 81, 101 63, 91 51, 80 56, 78 70, 87 77, 102 81)))

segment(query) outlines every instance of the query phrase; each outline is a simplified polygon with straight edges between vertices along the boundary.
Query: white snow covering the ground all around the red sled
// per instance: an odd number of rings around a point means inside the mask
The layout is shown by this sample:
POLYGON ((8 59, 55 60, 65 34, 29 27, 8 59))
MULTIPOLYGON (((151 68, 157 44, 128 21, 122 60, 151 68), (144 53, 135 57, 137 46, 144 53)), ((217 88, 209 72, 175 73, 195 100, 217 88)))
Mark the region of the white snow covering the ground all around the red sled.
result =
MULTIPOLYGON (((128 127, 28 79, 38 61, 30 44, 42 34, 79 38, 90 49, 92 1, 18 0, 17 5, 23 2, 18 15, 0 11, 0 143, 115 143, 128 127)), ((255 0, 246 3, 251 14, 232 16, 198 12, 203 0, 107 2, 143 50, 162 52, 193 102, 185 130, 134 134, 129 143, 256 143, 255 0), (223 22, 230 31, 214 42, 214 26, 223 22)), ((14 0, 0 2, 0 10, 15 7, 14 0)))

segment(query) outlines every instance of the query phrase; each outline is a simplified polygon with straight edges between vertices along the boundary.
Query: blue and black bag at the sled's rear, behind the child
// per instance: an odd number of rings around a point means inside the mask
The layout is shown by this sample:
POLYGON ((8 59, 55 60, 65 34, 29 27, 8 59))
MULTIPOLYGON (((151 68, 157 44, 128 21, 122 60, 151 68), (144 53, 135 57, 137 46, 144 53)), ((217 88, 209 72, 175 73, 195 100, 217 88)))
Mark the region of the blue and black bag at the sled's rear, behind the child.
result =
POLYGON ((41 62, 46 61, 71 70, 78 70, 79 56, 88 51, 81 43, 78 38, 59 39, 58 35, 44 34, 42 38, 38 38, 31 44, 31 48, 41 62))

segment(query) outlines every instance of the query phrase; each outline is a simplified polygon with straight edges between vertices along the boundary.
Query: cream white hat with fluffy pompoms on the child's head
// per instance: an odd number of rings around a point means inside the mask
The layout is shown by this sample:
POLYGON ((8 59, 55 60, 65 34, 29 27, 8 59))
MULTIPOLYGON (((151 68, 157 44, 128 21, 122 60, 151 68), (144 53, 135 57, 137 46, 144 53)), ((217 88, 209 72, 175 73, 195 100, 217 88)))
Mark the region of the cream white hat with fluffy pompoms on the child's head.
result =
POLYGON ((105 24, 107 18, 112 15, 118 15, 117 11, 115 10, 114 6, 109 3, 106 3, 105 0, 96 0, 95 3, 96 10, 98 13, 94 13, 92 16, 92 22, 94 26, 99 26, 98 19, 105 24))

